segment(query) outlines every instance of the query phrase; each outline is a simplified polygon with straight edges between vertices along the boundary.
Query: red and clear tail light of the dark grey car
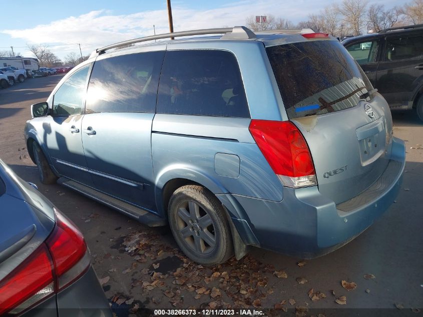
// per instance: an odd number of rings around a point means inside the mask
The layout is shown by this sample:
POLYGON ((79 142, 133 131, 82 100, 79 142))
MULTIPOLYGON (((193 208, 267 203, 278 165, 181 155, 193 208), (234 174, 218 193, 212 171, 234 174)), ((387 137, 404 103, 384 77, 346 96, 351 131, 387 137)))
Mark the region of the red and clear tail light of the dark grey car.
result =
POLYGON ((60 212, 49 238, 0 281, 0 315, 20 313, 86 272, 90 254, 81 232, 60 212))

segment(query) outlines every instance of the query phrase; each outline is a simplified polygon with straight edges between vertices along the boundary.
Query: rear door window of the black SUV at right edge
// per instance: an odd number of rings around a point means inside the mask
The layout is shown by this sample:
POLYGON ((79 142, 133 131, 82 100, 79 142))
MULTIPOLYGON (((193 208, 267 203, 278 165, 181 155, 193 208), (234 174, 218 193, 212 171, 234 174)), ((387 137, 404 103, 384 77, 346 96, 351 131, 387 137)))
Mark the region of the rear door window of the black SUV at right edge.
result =
POLYGON ((387 38, 385 61, 423 57, 423 36, 387 38))

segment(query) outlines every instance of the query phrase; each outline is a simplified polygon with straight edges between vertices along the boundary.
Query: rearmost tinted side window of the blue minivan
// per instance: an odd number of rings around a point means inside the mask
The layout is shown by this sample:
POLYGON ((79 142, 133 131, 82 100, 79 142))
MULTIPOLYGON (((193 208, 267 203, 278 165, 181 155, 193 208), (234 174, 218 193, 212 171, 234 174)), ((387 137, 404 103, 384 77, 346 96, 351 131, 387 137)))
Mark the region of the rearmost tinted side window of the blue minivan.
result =
POLYGON ((157 113, 249 118, 235 56, 218 50, 167 51, 157 113))

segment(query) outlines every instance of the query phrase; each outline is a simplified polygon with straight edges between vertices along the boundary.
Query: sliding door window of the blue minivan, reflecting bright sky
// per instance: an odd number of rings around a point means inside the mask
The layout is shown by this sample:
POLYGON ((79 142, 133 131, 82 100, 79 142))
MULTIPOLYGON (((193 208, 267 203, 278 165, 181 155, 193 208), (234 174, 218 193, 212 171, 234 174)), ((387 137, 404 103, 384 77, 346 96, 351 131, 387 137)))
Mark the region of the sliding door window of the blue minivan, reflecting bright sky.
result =
POLYGON ((95 62, 88 84, 86 113, 154 113, 164 54, 137 53, 95 62))

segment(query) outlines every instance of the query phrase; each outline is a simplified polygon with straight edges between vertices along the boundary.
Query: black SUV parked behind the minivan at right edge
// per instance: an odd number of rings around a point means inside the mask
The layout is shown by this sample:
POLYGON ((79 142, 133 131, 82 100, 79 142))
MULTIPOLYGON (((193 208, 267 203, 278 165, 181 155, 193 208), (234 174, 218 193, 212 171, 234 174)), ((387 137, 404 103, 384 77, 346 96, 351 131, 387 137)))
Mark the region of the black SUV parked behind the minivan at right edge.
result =
POLYGON ((342 44, 391 109, 415 109, 423 120, 423 24, 390 28, 342 44))

